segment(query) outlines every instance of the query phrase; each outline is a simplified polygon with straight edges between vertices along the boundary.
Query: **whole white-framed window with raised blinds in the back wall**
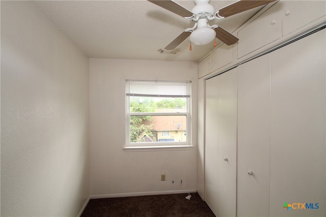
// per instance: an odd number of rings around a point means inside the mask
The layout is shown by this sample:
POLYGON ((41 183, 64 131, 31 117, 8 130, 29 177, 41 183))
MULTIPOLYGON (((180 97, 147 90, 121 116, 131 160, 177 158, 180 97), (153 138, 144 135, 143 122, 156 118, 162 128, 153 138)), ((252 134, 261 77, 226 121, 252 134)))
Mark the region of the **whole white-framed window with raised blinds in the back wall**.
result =
POLYGON ((191 82, 126 80, 128 147, 187 146, 191 82))

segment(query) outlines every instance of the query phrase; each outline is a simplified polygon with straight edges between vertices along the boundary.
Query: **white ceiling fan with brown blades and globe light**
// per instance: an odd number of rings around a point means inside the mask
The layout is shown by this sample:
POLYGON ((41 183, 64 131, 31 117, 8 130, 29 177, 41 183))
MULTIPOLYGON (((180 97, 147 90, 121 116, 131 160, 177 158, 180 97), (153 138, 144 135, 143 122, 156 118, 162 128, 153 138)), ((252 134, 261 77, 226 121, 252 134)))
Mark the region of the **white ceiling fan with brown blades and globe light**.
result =
MULTIPOLYGON (((164 9, 167 9, 177 15, 184 17, 185 19, 191 19, 195 22, 193 28, 188 28, 184 30, 177 38, 175 38, 168 46, 164 49, 173 50, 181 42, 190 36, 191 43, 197 45, 206 45, 214 40, 214 38, 220 39, 227 45, 235 44, 239 39, 233 36, 231 33, 227 32, 219 25, 209 25, 209 21, 213 19, 223 19, 225 17, 232 16, 234 14, 247 11, 252 8, 256 8, 262 5, 266 5, 271 1, 258 1, 258 0, 249 0, 249 1, 237 1, 233 4, 230 4, 219 10, 214 10, 213 6, 209 4, 210 0, 194 0, 195 7, 193 10, 189 11, 188 9, 182 7, 181 5, 168 0, 168 1, 158 1, 158 0, 148 0, 149 2, 160 6, 164 9)), ((214 46, 216 42, 214 40, 214 46)), ((191 50, 190 46, 190 50, 191 50)))

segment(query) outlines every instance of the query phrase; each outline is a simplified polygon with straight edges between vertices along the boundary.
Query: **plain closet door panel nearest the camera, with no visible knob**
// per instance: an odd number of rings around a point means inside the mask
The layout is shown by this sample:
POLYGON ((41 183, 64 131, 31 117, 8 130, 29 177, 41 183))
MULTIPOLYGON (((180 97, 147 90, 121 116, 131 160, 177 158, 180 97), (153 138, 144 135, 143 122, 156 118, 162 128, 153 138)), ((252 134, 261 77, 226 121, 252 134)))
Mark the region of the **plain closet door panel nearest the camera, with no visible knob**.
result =
POLYGON ((326 214, 325 35, 271 53, 270 216, 326 214))

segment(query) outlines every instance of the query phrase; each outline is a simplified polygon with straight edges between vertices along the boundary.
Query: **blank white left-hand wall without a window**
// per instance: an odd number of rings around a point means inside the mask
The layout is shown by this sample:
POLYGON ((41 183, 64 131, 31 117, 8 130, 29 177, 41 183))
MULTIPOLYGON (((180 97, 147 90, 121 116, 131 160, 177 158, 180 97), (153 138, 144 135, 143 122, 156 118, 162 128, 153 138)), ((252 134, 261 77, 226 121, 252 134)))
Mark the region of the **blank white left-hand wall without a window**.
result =
POLYGON ((31 2, 1 1, 1 215, 89 197, 89 60, 31 2))

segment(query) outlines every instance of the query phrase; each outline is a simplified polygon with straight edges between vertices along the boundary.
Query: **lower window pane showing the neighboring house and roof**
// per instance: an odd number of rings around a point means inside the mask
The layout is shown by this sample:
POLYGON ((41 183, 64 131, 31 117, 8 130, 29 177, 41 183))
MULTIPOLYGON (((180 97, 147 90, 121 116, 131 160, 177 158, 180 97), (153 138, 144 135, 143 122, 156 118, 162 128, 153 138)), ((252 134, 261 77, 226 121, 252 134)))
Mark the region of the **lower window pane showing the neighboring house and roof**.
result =
POLYGON ((131 143, 186 142, 185 130, 185 115, 130 116, 131 143))

